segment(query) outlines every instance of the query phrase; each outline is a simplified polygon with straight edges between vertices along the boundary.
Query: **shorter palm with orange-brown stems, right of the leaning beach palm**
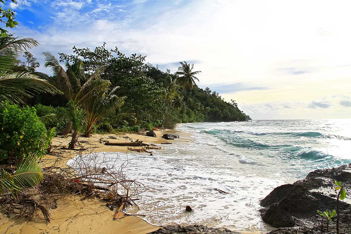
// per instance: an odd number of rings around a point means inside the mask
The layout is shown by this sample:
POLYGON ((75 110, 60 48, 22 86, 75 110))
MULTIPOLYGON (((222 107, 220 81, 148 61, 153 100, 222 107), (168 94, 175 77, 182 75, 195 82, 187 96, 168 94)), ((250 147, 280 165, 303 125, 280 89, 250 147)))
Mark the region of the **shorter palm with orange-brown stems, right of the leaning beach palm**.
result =
POLYGON ((94 99, 85 104, 86 127, 84 136, 89 137, 97 127, 119 117, 115 115, 115 110, 124 104, 125 97, 116 95, 118 88, 115 87, 110 92, 97 94, 94 99), (101 122, 102 118, 111 115, 114 116, 101 122))

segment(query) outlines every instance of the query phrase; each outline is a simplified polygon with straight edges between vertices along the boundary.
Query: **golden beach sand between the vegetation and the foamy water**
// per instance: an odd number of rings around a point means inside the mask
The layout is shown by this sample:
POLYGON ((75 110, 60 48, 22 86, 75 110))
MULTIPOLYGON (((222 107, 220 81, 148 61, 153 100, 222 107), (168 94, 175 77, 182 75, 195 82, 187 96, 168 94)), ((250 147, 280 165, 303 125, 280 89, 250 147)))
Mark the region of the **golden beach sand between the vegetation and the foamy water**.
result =
MULTIPOLYGON (((156 138, 140 134, 93 134, 90 138, 80 136, 79 145, 84 148, 92 148, 94 152, 131 152, 126 146, 105 146, 109 142, 130 142, 137 139, 144 143, 162 143, 162 142, 192 142, 191 134, 177 131, 174 129, 162 129, 155 131, 156 138), (179 134, 180 138, 174 140, 165 140, 161 138, 163 134, 179 134)), ((57 136, 53 139, 54 146, 67 147, 70 136, 57 136)), ((60 148, 59 147, 59 148, 60 148)), ((83 151, 88 153, 88 151, 83 151)), ((137 152, 133 152, 137 153, 137 152)), ((58 149, 57 156, 46 155, 43 159, 42 166, 48 167, 55 163, 55 166, 67 167, 66 162, 75 156, 78 151, 58 149)), ((56 209, 50 210, 51 222, 46 224, 45 219, 40 212, 32 220, 26 218, 8 218, 5 215, 0 216, 0 233, 7 234, 146 234, 159 229, 159 226, 151 225, 137 216, 124 216, 122 219, 113 220, 115 211, 111 211, 105 206, 106 202, 98 199, 80 200, 80 196, 67 196, 64 200, 58 202, 56 209), (13 226, 11 226, 13 225, 13 226)), ((242 232, 245 233, 245 232, 242 232)), ((250 234, 258 234, 247 232, 250 234)))

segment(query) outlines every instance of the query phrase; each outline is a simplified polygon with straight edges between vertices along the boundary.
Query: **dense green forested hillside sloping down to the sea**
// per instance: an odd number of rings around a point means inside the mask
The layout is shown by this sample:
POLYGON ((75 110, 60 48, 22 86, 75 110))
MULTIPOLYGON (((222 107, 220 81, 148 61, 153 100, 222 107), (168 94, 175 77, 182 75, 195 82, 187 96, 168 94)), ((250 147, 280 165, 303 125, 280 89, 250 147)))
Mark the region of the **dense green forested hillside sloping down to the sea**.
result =
MULTIPOLYGON (((140 128, 161 126, 172 128, 176 123, 245 121, 249 118, 234 101, 225 102, 210 88, 199 88, 195 75, 200 71, 195 71, 194 65, 186 62, 180 62, 178 72, 171 74, 168 69, 166 72, 160 71, 157 66, 145 63, 146 56, 126 56, 117 47, 108 50, 105 44, 94 50, 74 46, 72 54, 59 53, 56 56, 45 52, 43 56, 46 59, 45 66, 52 69, 51 76, 35 72, 38 63, 30 53, 25 54, 25 61, 18 61, 13 68, 14 71, 37 74, 64 93, 55 96, 37 94, 32 99, 26 99, 28 105, 38 110, 39 116, 62 115, 62 111, 59 113, 56 108, 67 107, 67 102, 77 100, 82 87, 94 87, 92 77, 99 77, 94 81, 95 85, 102 87, 104 95, 113 99, 94 99, 94 102, 101 102, 99 107, 93 107, 93 104, 81 107, 85 109, 86 116, 92 114, 89 108, 94 109, 94 112, 108 109, 101 118, 85 120, 91 125, 85 127, 87 136, 94 131, 139 131, 140 128), (112 103, 106 106, 104 102, 112 103)), ((89 95, 96 93, 91 92, 89 95)), ((61 130, 66 121, 64 119, 67 119, 65 116, 61 118, 54 121, 57 125, 51 123, 47 127, 61 130)))

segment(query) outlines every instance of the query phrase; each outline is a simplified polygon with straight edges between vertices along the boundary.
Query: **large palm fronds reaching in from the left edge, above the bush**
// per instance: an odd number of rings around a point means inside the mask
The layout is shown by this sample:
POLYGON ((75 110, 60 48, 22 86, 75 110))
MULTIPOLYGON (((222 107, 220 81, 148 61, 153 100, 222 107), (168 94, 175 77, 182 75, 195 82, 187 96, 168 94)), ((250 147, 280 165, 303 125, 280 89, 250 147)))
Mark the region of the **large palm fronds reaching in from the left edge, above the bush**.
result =
POLYGON ((30 72, 12 72, 16 59, 39 42, 33 38, 5 36, 0 38, 0 100, 10 103, 23 103, 23 97, 35 93, 60 93, 47 80, 30 72))

